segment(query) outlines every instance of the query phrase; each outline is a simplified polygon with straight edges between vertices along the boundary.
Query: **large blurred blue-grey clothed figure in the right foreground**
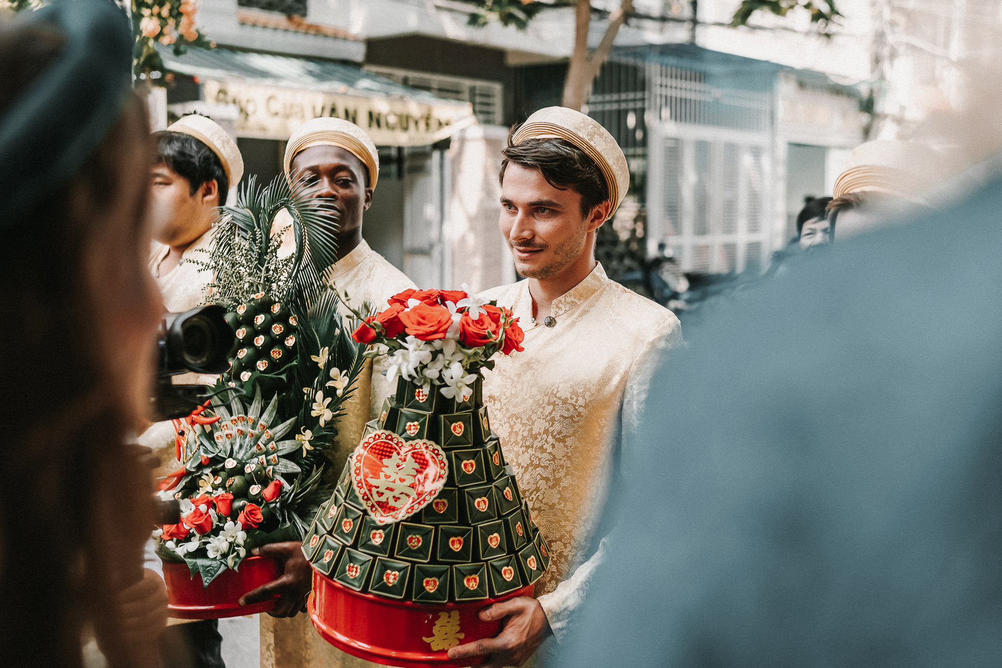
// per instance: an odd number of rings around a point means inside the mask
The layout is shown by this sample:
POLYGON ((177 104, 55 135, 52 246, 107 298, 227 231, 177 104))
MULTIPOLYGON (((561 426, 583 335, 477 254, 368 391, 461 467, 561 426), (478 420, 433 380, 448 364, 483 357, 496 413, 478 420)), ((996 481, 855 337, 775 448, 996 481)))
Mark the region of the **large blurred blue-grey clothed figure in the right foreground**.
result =
POLYGON ((1000 211, 996 177, 687 332, 557 666, 998 665, 1000 211))

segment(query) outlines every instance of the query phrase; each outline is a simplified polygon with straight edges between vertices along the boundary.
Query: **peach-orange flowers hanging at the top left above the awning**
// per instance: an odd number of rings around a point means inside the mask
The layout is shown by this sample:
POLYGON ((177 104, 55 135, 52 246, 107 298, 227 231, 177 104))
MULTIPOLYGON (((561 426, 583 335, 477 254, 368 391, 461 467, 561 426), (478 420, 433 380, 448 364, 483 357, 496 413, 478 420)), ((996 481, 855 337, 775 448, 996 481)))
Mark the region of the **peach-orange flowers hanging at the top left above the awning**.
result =
POLYGON ((195 16, 198 0, 132 0, 132 51, 136 76, 144 78, 163 68, 156 43, 172 46, 174 53, 184 53, 185 46, 212 48, 212 42, 198 31, 195 16))

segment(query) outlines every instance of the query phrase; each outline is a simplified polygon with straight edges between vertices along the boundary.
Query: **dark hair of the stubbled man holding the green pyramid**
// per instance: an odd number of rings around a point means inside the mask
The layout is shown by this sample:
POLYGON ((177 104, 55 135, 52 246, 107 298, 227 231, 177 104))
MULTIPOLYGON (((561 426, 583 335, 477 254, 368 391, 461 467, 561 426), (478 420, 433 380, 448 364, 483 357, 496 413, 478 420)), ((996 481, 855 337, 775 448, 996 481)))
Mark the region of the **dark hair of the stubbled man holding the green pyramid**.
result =
POLYGON ((508 146, 501 154, 498 182, 504 185, 504 172, 512 162, 527 169, 536 169, 555 188, 570 188, 581 195, 581 214, 609 199, 609 186, 602 170, 584 151, 566 139, 526 139, 515 145, 512 137, 518 125, 508 133, 508 146))

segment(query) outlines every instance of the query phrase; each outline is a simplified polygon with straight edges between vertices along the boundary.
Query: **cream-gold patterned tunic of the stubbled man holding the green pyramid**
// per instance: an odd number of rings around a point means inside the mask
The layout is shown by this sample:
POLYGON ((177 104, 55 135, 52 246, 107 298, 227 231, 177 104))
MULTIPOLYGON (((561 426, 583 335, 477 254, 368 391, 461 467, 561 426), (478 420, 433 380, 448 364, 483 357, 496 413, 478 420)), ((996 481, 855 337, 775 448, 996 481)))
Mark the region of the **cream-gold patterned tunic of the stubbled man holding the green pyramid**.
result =
POLYGON ((680 325, 670 310, 610 280, 597 263, 554 299, 553 326, 532 324, 528 281, 484 294, 512 308, 525 329, 525 351, 485 372, 484 404, 550 547, 550 570, 536 594, 557 627, 555 609, 570 599, 551 592, 583 561, 612 453, 635 429, 653 368, 681 342, 680 325))

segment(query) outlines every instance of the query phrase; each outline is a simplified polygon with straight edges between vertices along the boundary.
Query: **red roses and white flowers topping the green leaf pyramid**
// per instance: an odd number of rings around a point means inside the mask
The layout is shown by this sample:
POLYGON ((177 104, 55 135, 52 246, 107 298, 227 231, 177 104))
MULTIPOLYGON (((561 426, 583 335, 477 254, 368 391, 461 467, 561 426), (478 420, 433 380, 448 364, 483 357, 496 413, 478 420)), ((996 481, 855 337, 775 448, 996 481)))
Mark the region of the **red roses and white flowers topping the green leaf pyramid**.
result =
POLYGON ((401 377, 427 392, 432 385, 465 402, 490 360, 522 351, 518 318, 496 301, 462 290, 407 289, 390 297, 382 312, 362 317, 352 337, 373 345, 367 357, 388 356, 390 379, 401 377))

